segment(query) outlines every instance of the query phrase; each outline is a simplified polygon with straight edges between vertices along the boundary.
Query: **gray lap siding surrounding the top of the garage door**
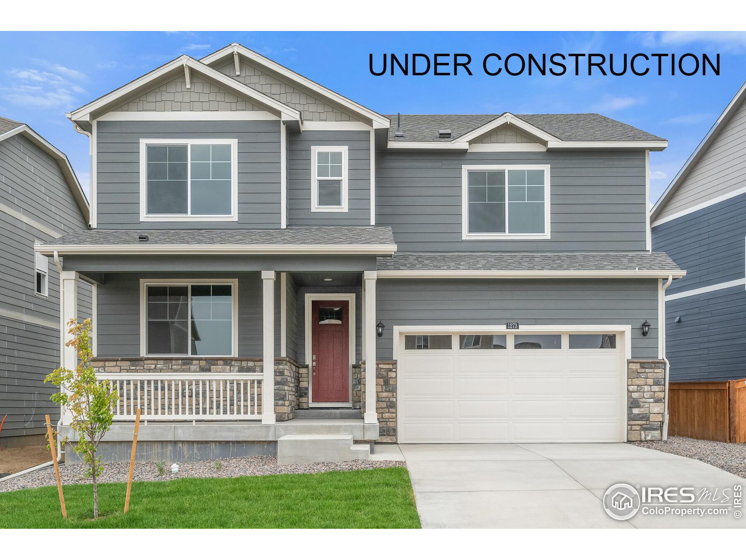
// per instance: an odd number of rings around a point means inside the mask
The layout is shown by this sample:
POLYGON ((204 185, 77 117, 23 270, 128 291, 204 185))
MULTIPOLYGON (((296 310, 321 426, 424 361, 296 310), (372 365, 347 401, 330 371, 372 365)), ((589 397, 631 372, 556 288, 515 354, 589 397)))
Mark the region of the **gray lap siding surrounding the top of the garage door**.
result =
POLYGON ((395 326, 631 325, 632 358, 658 356, 656 280, 380 279, 377 357, 393 358, 395 326), (640 325, 648 320, 650 334, 640 325))

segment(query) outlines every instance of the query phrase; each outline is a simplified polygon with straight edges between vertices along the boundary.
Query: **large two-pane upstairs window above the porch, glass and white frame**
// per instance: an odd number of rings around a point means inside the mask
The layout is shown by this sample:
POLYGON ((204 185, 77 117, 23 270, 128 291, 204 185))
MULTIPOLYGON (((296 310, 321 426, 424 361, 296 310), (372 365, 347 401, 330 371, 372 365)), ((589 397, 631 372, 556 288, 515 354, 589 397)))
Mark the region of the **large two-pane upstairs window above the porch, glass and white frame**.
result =
POLYGON ((237 140, 140 140, 142 221, 237 220, 237 140))

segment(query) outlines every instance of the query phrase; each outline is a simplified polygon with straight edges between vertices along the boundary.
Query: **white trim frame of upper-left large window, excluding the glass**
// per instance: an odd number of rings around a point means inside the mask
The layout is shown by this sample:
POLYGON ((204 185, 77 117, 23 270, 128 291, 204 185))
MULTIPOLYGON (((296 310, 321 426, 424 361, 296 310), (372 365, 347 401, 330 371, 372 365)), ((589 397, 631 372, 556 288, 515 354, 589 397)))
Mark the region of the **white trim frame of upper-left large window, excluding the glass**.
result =
POLYGON ((238 221, 238 139, 236 138, 140 138, 140 222, 237 222, 238 221), (148 214, 147 203, 147 146, 154 144, 186 144, 187 211, 191 211, 192 165, 191 152, 195 144, 227 144, 231 146, 231 214, 192 216, 174 214, 148 214))

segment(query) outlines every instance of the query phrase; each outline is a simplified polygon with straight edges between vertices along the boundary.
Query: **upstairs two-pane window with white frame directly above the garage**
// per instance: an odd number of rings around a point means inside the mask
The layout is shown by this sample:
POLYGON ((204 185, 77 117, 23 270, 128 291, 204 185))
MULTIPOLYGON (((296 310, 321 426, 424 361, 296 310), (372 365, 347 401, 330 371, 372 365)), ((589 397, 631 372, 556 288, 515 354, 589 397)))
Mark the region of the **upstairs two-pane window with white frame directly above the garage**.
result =
POLYGON ((463 166, 463 239, 548 239, 549 166, 463 166))

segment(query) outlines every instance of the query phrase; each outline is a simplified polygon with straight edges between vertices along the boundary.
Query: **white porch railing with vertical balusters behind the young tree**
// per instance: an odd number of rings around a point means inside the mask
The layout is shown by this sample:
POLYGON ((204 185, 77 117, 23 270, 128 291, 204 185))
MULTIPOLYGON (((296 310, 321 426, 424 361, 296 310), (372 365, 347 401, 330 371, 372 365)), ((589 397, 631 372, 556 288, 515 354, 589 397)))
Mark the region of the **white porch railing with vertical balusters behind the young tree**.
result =
POLYGON ((261 420, 262 373, 99 373, 119 393, 114 420, 261 420))

